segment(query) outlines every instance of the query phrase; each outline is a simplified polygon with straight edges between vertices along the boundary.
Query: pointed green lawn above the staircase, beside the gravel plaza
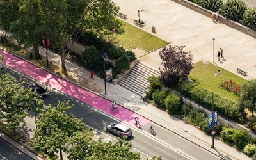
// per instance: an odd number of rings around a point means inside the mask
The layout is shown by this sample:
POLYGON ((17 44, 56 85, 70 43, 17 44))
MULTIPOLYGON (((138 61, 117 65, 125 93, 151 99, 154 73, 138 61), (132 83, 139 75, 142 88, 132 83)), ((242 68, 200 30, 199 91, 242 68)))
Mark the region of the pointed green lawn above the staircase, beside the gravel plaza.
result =
POLYGON ((136 28, 131 24, 121 20, 125 33, 122 35, 113 35, 118 41, 118 45, 123 45, 127 49, 142 49, 149 52, 153 49, 157 49, 163 45, 168 44, 165 40, 157 38, 156 36, 143 31, 140 28, 136 28), (124 26, 126 24, 126 26, 124 26))

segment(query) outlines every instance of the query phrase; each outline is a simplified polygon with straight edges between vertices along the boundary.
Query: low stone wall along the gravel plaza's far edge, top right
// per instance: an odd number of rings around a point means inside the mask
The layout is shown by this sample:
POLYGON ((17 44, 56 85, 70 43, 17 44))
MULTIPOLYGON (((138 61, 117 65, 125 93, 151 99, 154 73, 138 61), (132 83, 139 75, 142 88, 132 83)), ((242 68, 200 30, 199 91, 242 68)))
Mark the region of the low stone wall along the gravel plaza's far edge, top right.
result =
MULTIPOLYGON (((183 6, 186 6, 186 7, 190 8, 191 10, 195 10, 196 12, 202 13, 203 15, 206 15, 209 18, 211 18, 212 13, 215 13, 210 10, 206 10, 202 6, 198 6, 197 4, 192 3, 191 1, 188 1, 188 0, 172 0, 172 1, 182 4, 183 6)), ((238 31, 246 33, 247 35, 256 37, 256 31, 254 31, 253 29, 247 28, 246 26, 243 26, 242 24, 239 24, 233 20, 227 19, 227 18, 223 17, 222 15, 219 15, 219 20, 220 20, 220 22, 222 22, 223 24, 226 24, 227 26, 229 26, 231 28, 237 29, 238 31)))

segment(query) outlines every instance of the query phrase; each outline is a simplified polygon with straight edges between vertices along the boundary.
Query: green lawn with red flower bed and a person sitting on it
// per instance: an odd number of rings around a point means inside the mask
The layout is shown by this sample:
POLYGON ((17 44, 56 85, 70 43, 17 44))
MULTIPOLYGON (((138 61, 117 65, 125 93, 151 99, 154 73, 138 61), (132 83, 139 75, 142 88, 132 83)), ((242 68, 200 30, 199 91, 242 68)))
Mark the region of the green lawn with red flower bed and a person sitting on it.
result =
POLYGON ((224 88, 220 87, 221 80, 223 79, 232 79, 236 82, 236 84, 241 84, 246 82, 246 79, 243 79, 228 70, 225 70, 217 65, 213 65, 212 63, 204 63, 202 61, 195 63, 195 68, 191 70, 189 79, 192 79, 196 84, 200 84, 200 86, 205 86, 209 90, 219 93, 224 97, 235 100, 238 102, 238 96, 232 92, 226 91, 224 88), (222 76, 214 76, 217 70, 221 71, 222 76))

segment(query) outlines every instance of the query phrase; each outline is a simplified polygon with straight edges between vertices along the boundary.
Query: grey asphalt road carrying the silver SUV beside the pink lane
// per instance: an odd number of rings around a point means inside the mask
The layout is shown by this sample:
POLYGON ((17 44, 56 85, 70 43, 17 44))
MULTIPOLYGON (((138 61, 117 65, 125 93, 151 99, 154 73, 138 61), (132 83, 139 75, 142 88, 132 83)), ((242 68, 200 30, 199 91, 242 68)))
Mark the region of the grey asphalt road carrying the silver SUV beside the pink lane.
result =
MULTIPOLYGON (((70 100, 70 104, 75 104, 75 108, 70 109, 68 113, 74 114, 77 118, 83 118, 84 124, 94 129, 96 139, 100 137, 105 141, 112 140, 115 142, 118 138, 114 134, 106 131, 106 125, 121 122, 118 118, 108 115, 97 108, 93 108, 93 106, 84 104, 84 102, 80 100, 53 90, 51 86, 41 84, 31 77, 24 76, 13 69, 5 68, 4 72, 10 73, 17 79, 18 83, 25 81, 26 84, 40 84, 43 86, 50 92, 50 94, 44 98, 45 104, 56 106, 58 100, 61 102, 70 100)), ((31 119, 35 118, 35 113, 30 113, 29 117, 31 119)), ((122 123, 125 124, 125 122, 122 123)), ((163 156, 163 159, 220 159, 220 157, 211 154, 211 152, 208 152, 204 148, 198 147, 190 141, 152 122, 143 125, 141 129, 137 129, 135 126, 129 124, 125 125, 129 126, 133 131, 133 135, 129 137, 127 141, 132 142, 134 152, 141 152, 141 159, 150 158, 154 155, 163 156), (148 132, 150 125, 154 126, 156 135, 148 132)))

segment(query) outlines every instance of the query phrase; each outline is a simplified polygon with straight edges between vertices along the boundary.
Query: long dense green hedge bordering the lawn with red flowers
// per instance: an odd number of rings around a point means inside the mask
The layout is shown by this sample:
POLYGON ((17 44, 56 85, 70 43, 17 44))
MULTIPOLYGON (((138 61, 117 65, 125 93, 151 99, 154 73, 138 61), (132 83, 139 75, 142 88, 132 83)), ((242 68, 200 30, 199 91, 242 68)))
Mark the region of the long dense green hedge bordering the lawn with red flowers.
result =
MULTIPOLYGON (((212 95, 210 90, 189 81, 184 81, 184 83, 180 83, 178 86, 182 95, 195 100, 195 102, 202 104, 208 109, 212 109, 212 101, 204 100, 207 95, 212 95)), ((218 114, 226 116, 232 120, 239 120, 241 117, 243 117, 243 119, 246 118, 244 108, 239 108, 239 105, 236 102, 222 97, 218 93, 214 93, 214 110, 218 111, 218 114)))

